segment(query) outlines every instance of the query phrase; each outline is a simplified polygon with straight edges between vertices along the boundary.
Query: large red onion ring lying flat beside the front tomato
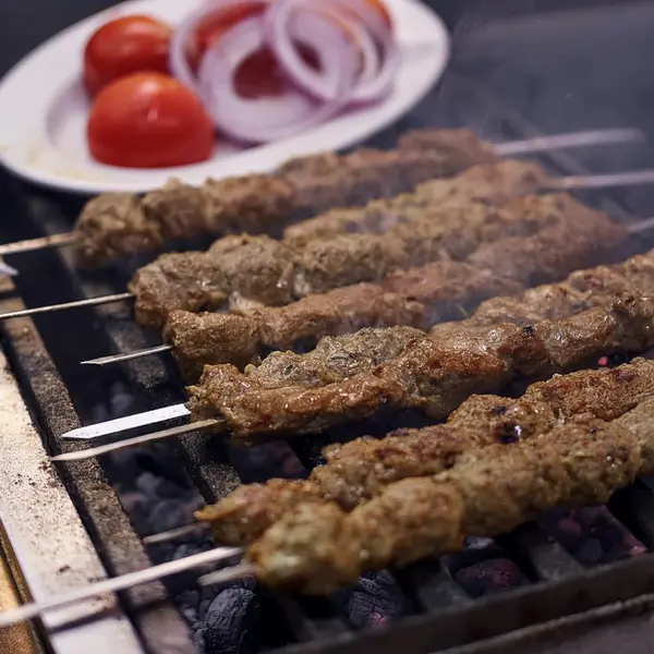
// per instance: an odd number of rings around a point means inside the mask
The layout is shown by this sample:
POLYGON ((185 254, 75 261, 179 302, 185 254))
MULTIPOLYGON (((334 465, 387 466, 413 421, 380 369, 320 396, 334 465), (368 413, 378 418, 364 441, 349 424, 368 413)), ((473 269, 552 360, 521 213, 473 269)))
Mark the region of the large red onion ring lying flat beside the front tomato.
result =
POLYGON ((317 102, 295 88, 279 98, 243 98, 235 89, 237 71, 250 56, 267 47, 267 41, 263 17, 241 21, 209 48, 199 66, 199 95, 216 128, 238 141, 267 143, 292 136, 335 116, 351 100, 359 64, 342 32, 332 45, 335 69, 329 74, 337 80, 334 99, 317 102))

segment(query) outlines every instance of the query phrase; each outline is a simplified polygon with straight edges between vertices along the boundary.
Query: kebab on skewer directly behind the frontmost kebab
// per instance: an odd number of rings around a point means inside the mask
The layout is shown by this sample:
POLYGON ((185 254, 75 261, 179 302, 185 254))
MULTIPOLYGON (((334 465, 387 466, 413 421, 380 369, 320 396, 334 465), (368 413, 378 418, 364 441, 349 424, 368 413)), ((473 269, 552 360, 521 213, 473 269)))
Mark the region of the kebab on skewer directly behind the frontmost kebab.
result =
MULTIPOLYGON (((201 522, 190 526, 204 522, 211 528, 216 542, 245 547, 263 535, 265 537, 266 532, 278 523, 283 524, 287 514, 295 513, 296 507, 303 504, 312 508, 337 505, 340 511, 356 511, 359 507, 365 507, 367 502, 384 496, 389 487, 399 487, 398 482, 401 484, 414 477, 424 480, 448 470, 452 473, 447 479, 459 479, 461 469, 467 470, 468 474, 470 461, 476 462, 474 468, 486 463, 485 471, 480 468, 483 475, 477 480, 479 492, 484 487, 483 476, 491 474, 499 479, 504 476, 507 486, 522 485, 526 483, 522 479, 525 471, 520 465, 516 465, 514 470, 508 465, 496 467, 494 452, 513 449, 516 446, 511 444, 524 446, 533 441, 534 452, 538 456, 542 449, 547 450, 553 440, 561 445, 561 427, 568 428, 578 424, 578 421, 592 428, 597 423, 610 424, 605 421, 623 421, 641 436, 641 445, 645 445, 642 453, 646 469, 654 471, 654 431, 651 427, 653 393, 654 362, 634 360, 615 370, 555 376, 547 382, 533 384, 519 399, 473 396, 450 415, 446 424, 422 429, 399 429, 382 439, 364 437, 346 445, 328 446, 324 452, 327 463, 315 468, 307 481, 270 480, 265 484, 240 486, 216 505, 196 512, 196 519, 201 522), (634 407, 639 407, 638 414, 632 411, 634 407), (580 415, 583 417, 580 419, 580 415), (650 435, 645 436, 647 433, 642 429, 647 423, 650 435)), ((570 452, 574 458, 574 449, 570 452)), ((516 461, 510 457, 509 460, 516 461)), ((583 465, 581 459, 580 464, 583 465)), ((552 481, 550 470, 548 477, 552 481)), ((530 483, 537 485, 538 481, 540 476, 535 474, 530 483)), ((422 485, 423 481, 419 483, 422 485)), ((407 482, 405 487, 417 488, 417 484, 407 482)), ((524 520, 524 507, 513 511, 511 501, 505 505, 504 514, 494 516, 493 489, 489 493, 489 497, 475 500, 469 508, 475 516, 473 524, 483 524, 484 528, 482 531, 476 531, 477 526, 471 528, 465 534, 495 535, 509 531, 513 526, 510 519, 508 526, 502 525, 512 512, 518 513, 521 521, 524 520)), ((597 501, 605 499, 598 498, 597 501)), ((399 496, 396 496, 396 500, 399 500, 399 496)), ((410 502, 410 497, 405 501, 410 502)), ((386 508, 391 509, 390 506, 386 508)), ((405 511, 411 508, 396 506, 398 509, 405 511)), ((173 530, 147 541, 167 541, 185 531, 189 530, 173 530)), ((410 532, 407 537, 411 538, 411 535, 410 532)))

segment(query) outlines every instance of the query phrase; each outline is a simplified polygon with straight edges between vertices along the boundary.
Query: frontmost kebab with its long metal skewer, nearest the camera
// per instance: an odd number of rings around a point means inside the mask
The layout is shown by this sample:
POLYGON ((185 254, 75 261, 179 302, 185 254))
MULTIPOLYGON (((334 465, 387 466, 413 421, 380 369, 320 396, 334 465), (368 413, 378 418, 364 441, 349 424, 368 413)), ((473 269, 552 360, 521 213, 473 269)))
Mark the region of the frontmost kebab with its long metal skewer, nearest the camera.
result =
MULTIPOLYGON (((302 502, 249 547, 249 562, 205 576, 199 583, 255 574, 270 585, 324 593, 354 581, 362 570, 457 550, 465 534, 497 535, 557 506, 604 502, 638 474, 654 472, 654 401, 633 407, 613 422, 581 414, 547 435, 472 450, 449 471, 390 484, 351 513, 335 502, 302 502)), ((229 560, 238 552, 217 548, 28 604, 0 614, 0 627, 229 560)))

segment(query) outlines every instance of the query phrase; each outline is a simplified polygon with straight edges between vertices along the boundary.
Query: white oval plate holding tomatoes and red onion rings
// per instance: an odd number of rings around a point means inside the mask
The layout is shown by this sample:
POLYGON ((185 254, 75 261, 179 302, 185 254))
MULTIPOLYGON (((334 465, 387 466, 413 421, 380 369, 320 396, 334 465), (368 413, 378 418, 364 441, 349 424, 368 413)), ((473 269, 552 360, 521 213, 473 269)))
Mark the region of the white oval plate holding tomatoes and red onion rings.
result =
POLYGON ((386 0, 402 63, 385 101, 272 144, 243 150, 217 146, 211 159, 193 166, 135 170, 95 162, 86 147, 88 101, 81 83, 86 39, 121 14, 146 13, 175 25, 201 2, 124 2, 39 46, 0 82, 0 162, 32 182, 89 194, 149 191, 172 175, 201 184, 207 177, 267 172, 290 157, 348 147, 395 122, 438 81, 449 58, 449 36, 435 13, 417 0, 386 0))

